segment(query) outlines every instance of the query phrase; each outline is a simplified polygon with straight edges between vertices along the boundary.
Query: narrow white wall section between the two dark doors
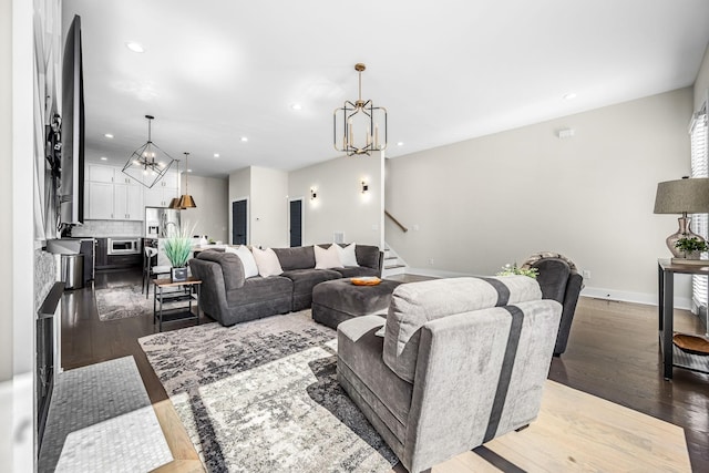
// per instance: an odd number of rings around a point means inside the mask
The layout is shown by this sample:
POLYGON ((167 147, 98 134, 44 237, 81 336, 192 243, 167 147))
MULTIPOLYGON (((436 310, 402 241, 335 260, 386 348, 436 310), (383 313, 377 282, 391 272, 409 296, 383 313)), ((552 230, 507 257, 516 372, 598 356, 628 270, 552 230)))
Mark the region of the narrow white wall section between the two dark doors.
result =
POLYGON ((249 205, 251 245, 264 248, 287 247, 288 173, 251 166, 249 205))

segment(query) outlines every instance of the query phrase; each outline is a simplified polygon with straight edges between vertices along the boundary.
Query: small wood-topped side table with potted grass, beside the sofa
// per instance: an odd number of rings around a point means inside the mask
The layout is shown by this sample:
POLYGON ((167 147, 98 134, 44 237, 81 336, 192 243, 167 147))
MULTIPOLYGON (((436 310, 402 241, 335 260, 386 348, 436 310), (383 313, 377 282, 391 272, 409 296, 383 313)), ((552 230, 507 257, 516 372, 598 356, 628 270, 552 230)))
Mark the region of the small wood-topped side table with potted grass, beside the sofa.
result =
POLYGON ((163 322, 174 322, 177 320, 197 320, 199 325, 199 305, 197 304, 197 313, 192 312, 192 301, 199 299, 199 288, 202 280, 191 276, 187 280, 173 282, 172 279, 153 279, 155 288, 153 290, 153 323, 157 320, 158 330, 163 331, 163 322), (165 292, 165 289, 176 288, 186 290, 176 290, 165 292), (187 306, 172 307, 164 309, 164 302, 175 302, 186 300, 187 306))

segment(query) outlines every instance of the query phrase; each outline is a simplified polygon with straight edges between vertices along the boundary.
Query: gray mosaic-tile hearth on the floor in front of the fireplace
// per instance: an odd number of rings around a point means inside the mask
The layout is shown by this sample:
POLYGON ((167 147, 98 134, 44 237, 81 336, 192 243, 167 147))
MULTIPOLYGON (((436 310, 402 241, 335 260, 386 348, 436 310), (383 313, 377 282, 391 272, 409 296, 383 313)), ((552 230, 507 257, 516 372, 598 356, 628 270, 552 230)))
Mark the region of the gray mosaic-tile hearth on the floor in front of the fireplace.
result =
POLYGON ((39 472, 150 472, 172 460, 133 357, 59 374, 39 472))

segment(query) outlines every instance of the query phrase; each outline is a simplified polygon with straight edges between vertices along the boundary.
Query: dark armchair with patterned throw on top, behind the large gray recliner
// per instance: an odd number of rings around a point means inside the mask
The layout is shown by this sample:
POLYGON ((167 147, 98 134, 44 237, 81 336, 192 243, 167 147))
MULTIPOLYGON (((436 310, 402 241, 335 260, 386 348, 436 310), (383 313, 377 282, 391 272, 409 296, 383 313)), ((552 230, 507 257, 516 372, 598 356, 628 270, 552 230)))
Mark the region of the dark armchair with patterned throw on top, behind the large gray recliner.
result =
POLYGON ((574 261, 558 253, 537 253, 530 256, 522 267, 537 268, 540 274, 536 279, 542 288, 542 297, 554 299, 564 306, 554 346, 554 356, 558 357, 566 351, 576 304, 580 290, 584 288, 584 278, 576 270, 574 261))

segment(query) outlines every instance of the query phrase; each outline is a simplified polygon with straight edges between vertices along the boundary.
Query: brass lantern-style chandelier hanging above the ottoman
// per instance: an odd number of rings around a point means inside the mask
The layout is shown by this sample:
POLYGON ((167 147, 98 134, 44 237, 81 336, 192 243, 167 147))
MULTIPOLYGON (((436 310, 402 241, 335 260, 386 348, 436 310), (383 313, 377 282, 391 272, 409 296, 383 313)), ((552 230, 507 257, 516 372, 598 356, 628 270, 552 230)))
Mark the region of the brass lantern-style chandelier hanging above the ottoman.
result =
POLYGON ((354 103, 345 101, 345 105, 335 110, 333 144, 335 148, 347 153, 370 155, 372 151, 387 148, 387 109, 374 106, 371 100, 362 100, 362 71, 367 66, 354 64, 359 74, 359 96, 354 103), (380 132, 379 124, 383 124, 380 132), (383 141, 380 138, 383 137, 383 141))

